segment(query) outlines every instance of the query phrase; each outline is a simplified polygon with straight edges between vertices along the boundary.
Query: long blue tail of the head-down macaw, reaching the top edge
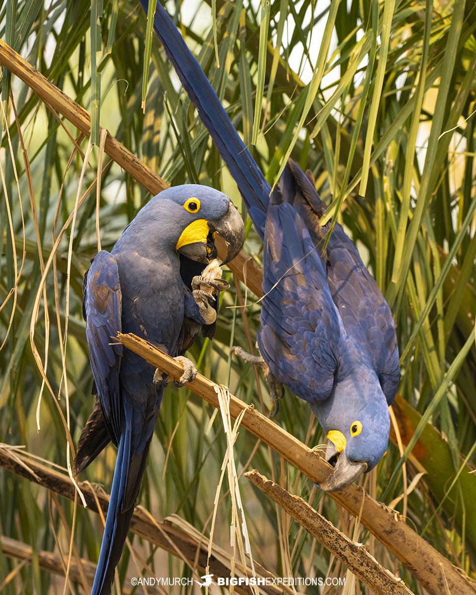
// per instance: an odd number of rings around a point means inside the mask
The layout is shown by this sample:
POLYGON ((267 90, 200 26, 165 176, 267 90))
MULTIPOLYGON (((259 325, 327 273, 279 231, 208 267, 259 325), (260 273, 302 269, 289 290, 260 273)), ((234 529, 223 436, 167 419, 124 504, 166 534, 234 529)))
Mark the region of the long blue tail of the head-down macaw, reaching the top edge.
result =
MULTIPOLYGON (((140 3, 147 12, 148 0, 140 0, 140 3)), ((203 124, 236 181, 258 233, 263 235, 264 219, 259 215, 268 209, 270 184, 240 139, 217 93, 160 2, 157 2, 154 15, 154 29, 180 82, 198 109, 203 124)))

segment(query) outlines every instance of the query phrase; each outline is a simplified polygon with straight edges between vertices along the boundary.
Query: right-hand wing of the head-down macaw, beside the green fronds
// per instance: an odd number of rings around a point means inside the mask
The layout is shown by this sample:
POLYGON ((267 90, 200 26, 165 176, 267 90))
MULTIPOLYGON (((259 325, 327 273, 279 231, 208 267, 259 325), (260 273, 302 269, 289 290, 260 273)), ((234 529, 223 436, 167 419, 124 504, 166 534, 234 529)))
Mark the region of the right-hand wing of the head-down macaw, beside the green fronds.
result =
MULTIPOLYGON (((328 229, 328 226, 321 228, 318 222, 325 205, 299 166, 290 162, 290 168, 301 191, 302 212, 318 245, 328 229)), ((387 403, 391 405, 399 385, 400 368, 395 324, 389 305, 339 223, 334 226, 323 258, 327 262, 332 299, 346 332, 364 347, 387 403)))

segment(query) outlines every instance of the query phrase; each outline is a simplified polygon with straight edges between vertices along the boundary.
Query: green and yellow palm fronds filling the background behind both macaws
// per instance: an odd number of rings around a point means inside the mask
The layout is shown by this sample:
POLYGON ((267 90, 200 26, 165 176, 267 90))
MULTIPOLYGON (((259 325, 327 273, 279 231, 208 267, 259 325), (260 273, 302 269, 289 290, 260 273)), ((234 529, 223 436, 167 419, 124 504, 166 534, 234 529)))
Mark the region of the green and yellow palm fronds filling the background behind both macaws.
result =
MULTIPOLYGON (((268 180, 278 179, 289 154, 310 168, 322 198, 332 205, 328 216, 337 210, 389 301, 401 354, 399 393, 425 412, 418 434, 425 422, 441 434, 405 465, 390 444, 388 455, 362 481, 474 577, 476 487, 466 481, 476 450, 474 3, 184 0, 166 7, 268 180)), ((146 43, 146 15, 137 2, 6 0, 0 31, 30 64, 90 110, 96 142, 100 123, 169 184, 209 184, 241 205, 161 46, 155 37, 146 43)), ((110 249, 150 196, 104 156, 96 218, 98 147, 84 165, 88 139, 77 137, 73 126, 25 84, 10 80, 7 71, 2 100, 0 440, 65 466, 67 440, 58 405, 74 443, 93 406, 81 284, 98 250, 96 224, 102 248, 110 249), (59 403, 43 387, 39 404, 43 383, 30 346, 32 318, 33 342, 43 364, 47 361, 46 377, 59 403)), ((259 262, 262 246, 250 223, 247 230, 245 251, 259 262)), ((256 384, 253 369, 230 357, 230 346, 254 345, 258 328, 256 297, 231 280, 215 340, 196 340, 190 355, 202 374, 228 384, 248 403, 261 402, 266 412, 262 377, 256 384), (246 308, 228 307, 242 299, 246 308)), ((292 394, 281 401, 275 421, 310 446, 322 443, 308 407, 292 394)), ((187 390, 169 387, 140 504, 158 518, 176 513, 208 535, 225 453, 220 415, 187 390)), ((234 456, 239 473, 256 467, 286 484, 366 543, 414 593, 424 592, 375 538, 245 430, 234 456)), ((85 475, 109 491, 114 462, 108 447, 85 475)), ((239 485, 253 556, 262 566, 278 576, 346 576, 345 567, 248 480, 239 485)), ((223 487, 221 496, 225 492, 223 487)), ((0 502, 0 534, 33 547, 33 562, 26 564, 0 549, 2 593, 62 593, 64 581, 41 568, 37 553, 68 552, 65 526, 73 522, 73 505, 52 500, 44 488, 4 470, 0 502)), ((230 514, 225 496, 214 536, 225 549, 230 514)), ((80 505, 76 515, 74 544, 80 556, 95 561, 99 519, 80 505)), ((134 538, 133 547, 156 576, 192 575, 182 560, 145 541, 134 538)), ((140 569, 125 550, 121 582, 130 587, 140 569)), ((81 584, 73 589, 83 592, 81 584)), ((344 590, 325 592, 366 588, 347 575, 344 590)))

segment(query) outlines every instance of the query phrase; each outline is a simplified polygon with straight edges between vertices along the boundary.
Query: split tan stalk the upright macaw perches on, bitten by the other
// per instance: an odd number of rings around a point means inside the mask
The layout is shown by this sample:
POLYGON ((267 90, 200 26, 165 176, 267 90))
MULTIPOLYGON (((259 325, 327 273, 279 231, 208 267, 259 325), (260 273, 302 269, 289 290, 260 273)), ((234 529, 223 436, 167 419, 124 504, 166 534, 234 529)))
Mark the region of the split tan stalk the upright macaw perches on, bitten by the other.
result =
MULTIPOLYGON (((183 374, 181 364, 151 343, 134 334, 119 333, 117 339, 175 380, 183 374)), ((198 374, 187 387, 214 407, 219 407, 217 385, 208 378, 198 374)), ((252 405, 230 394, 230 415, 236 419, 240 414, 243 414, 241 425, 246 430, 271 446, 315 483, 325 481, 331 466, 324 459, 252 405)), ((364 488, 352 485, 329 495, 352 515, 361 515, 362 525, 406 566, 428 593, 441 595, 449 588, 452 595, 476 594, 474 581, 406 525, 399 513, 374 500, 364 488)))

